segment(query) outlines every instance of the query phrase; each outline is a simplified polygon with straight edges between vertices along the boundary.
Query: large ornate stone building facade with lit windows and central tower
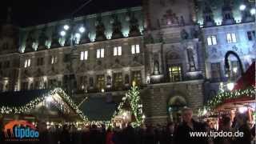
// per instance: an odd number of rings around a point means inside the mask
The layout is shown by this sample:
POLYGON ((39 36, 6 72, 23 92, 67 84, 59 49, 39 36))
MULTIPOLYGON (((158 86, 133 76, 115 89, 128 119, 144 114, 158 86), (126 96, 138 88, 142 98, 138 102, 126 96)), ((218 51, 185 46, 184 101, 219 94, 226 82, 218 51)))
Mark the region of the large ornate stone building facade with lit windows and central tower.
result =
MULTIPOLYGON (((224 56, 235 51, 246 69, 254 61, 254 2, 145 0, 142 6, 39 26, 2 25, 0 89, 66 89, 74 98, 119 97, 141 86, 147 122, 178 120, 226 82, 224 56), (64 28, 63 26, 70 26, 64 28), (81 27, 84 30, 81 30, 81 27), (62 31, 66 29, 65 33, 62 31), (70 71, 70 31, 77 58, 70 71), (76 31, 75 31, 76 32, 76 31)), ((231 58, 232 78, 239 77, 231 58)))

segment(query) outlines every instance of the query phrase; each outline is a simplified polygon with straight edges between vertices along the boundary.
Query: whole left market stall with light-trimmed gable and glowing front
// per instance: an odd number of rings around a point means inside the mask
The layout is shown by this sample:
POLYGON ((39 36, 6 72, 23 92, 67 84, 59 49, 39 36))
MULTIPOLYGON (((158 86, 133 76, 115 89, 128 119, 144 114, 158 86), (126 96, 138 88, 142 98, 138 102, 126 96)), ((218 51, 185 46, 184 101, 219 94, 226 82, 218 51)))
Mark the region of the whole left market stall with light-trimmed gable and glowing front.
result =
POLYGON ((4 92, 0 97, 0 115, 4 122, 12 119, 47 123, 87 120, 78 106, 60 88, 4 92))

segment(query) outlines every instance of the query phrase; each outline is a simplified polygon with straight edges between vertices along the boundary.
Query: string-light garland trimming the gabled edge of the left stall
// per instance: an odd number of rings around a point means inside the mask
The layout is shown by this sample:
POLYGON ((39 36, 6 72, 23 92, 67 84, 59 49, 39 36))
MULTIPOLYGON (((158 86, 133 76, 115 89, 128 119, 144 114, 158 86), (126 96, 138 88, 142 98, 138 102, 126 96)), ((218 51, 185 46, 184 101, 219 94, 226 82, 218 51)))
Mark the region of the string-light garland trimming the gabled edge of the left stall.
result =
MULTIPOLYGON (((27 103, 25 106, 20 107, 9 107, 9 106, 2 106, 0 107, 0 114, 23 114, 27 110, 32 110, 40 102, 46 100, 47 97, 52 96, 54 94, 58 94, 63 98, 63 101, 66 102, 81 118, 83 121, 88 121, 88 118, 82 113, 81 110, 78 109, 78 106, 71 100, 71 98, 61 89, 55 88, 54 90, 50 90, 47 94, 43 94, 40 98, 35 98, 31 102, 27 103)), ((59 108, 59 107, 58 107, 59 108)))

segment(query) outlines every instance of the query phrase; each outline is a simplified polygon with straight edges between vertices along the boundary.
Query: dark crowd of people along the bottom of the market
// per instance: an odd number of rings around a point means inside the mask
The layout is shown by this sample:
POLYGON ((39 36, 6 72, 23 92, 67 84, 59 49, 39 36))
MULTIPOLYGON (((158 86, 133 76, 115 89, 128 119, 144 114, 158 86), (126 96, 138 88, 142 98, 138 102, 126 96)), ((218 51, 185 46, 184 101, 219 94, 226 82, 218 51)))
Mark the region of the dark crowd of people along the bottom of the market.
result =
MULTIPOLYGON (((76 126, 56 126, 54 129, 38 128, 39 144, 251 144, 255 138, 255 125, 247 124, 246 116, 237 114, 234 122, 231 118, 223 116, 222 125, 218 130, 208 122, 198 122, 193 118, 189 108, 182 110, 182 122, 169 122, 166 126, 146 125, 134 128, 107 127, 102 125, 85 126, 78 130, 76 126), (191 137, 190 132, 239 130, 242 137, 191 137)), ((2 139, 2 138, 0 138, 2 139)), ((5 143, 4 141, 0 142, 5 143)))

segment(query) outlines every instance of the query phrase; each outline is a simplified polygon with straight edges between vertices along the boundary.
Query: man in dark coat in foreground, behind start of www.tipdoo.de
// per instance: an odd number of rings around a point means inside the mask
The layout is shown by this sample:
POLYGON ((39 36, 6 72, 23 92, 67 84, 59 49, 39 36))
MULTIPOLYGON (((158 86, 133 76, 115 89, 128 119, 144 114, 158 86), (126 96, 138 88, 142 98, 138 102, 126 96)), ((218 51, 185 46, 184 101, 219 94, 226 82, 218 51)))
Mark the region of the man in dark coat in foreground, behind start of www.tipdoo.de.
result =
POLYGON ((182 120, 183 122, 178 126, 174 134, 175 144, 207 144, 206 137, 192 137, 191 132, 206 132, 206 127, 200 122, 194 121, 192 118, 193 110, 190 108, 183 108, 182 120))

